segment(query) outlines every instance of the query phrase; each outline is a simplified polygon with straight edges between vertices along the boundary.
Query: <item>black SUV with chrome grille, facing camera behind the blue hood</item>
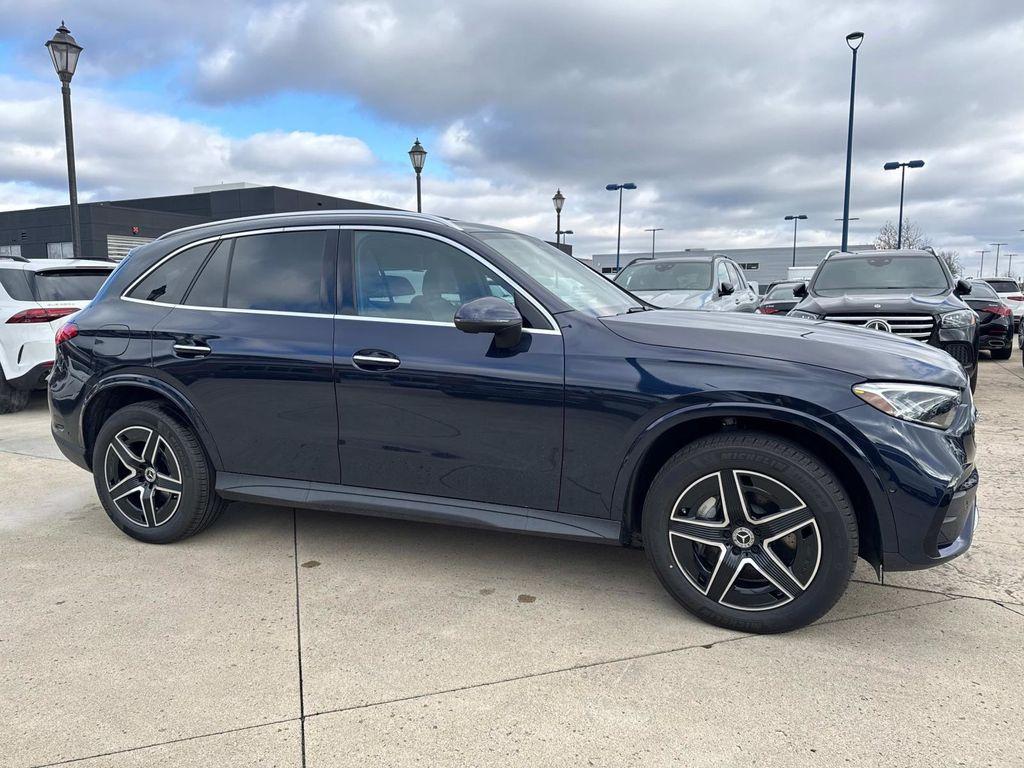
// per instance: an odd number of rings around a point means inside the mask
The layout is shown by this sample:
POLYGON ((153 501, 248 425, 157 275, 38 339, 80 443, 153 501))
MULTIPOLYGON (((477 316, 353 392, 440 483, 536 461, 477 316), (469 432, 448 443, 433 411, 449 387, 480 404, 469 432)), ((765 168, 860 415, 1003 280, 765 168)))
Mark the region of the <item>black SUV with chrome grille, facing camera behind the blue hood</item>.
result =
POLYGON ((916 339, 944 349, 978 383, 978 316, 962 299, 971 284, 956 280, 934 252, 834 251, 810 282, 791 317, 826 319, 916 339))

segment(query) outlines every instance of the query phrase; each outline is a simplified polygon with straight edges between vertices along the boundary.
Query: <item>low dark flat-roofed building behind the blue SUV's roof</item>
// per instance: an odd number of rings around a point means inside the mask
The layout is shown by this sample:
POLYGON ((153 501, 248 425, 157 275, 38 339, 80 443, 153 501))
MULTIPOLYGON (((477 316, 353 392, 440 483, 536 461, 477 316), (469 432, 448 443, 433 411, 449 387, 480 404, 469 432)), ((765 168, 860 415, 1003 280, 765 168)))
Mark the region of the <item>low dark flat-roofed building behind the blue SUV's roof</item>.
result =
MULTIPOLYGON (((190 224, 289 211, 376 208, 385 206, 284 186, 221 184, 197 187, 191 195, 84 203, 82 257, 122 259, 132 248, 190 224)), ((0 256, 30 259, 70 258, 68 206, 0 211, 0 256)))

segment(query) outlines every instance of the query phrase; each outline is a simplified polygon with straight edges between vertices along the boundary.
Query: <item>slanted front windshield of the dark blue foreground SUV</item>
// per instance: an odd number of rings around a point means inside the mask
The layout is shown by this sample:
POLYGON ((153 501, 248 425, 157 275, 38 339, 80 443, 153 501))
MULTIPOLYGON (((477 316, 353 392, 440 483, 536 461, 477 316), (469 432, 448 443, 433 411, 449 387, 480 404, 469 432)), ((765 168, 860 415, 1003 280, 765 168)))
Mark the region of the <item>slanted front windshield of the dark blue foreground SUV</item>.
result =
POLYGON ((473 237, 581 312, 606 317, 639 307, 636 299, 613 283, 536 238, 503 231, 473 232, 473 237))

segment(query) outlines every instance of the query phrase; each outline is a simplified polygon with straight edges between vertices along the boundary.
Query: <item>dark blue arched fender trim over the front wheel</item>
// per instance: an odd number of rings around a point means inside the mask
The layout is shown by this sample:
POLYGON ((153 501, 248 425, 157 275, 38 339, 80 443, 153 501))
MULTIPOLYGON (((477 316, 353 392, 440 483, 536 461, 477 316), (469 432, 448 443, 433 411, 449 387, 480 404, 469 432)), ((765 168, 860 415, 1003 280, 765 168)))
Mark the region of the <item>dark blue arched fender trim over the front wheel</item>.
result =
POLYGON ((896 522, 893 519, 892 506, 889 504, 886 485, 864 450, 834 424, 801 411, 769 403, 719 404, 701 402, 671 411, 648 424, 623 457, 622 468, 615 477, 614 489, 612 490, 612 509, 622 510, 624 537, 629 536, 629 500, 633 496, 640 467, 643 466, 644 459, 654 441, 673 427, 688 422, 708 418, 724 419, 744 416, 802 427, 831 443, 834 447, 844 454, 860 476, 871 498, 874 516, 882 532, 883 548, 886 549, 886 545, 895 546, 896 522))

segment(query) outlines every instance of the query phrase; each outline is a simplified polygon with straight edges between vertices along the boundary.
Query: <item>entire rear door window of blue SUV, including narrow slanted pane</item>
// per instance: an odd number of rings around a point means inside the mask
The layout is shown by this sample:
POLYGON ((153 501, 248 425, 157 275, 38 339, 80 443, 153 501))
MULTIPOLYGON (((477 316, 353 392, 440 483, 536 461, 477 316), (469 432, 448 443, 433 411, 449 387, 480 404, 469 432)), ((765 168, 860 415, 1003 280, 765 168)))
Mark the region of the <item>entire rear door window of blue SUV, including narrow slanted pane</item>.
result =
POLYGON ((324 230, 249 234, 222 241, 188 293, 189 306, 327 311, 324 230))

